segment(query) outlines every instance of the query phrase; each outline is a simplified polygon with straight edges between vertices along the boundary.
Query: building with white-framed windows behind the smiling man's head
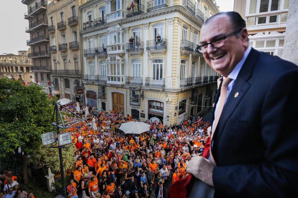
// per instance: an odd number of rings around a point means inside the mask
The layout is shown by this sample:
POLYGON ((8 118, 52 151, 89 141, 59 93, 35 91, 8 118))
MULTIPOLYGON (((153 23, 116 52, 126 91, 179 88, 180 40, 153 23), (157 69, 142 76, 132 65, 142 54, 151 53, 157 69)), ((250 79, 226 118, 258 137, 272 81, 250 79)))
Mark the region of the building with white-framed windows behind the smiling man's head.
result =
POLYGON ((237 0, 234 11, 246 20, 249 45, 283 57, 289 0, 237 0))

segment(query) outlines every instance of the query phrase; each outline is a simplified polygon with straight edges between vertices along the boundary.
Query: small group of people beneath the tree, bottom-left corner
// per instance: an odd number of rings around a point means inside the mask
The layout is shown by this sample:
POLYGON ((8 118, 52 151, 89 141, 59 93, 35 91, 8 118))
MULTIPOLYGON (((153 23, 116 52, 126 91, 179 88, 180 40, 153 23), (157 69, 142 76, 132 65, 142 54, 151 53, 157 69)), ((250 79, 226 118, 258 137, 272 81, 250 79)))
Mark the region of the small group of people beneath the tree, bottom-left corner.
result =
POLYGON ((0 198, 35 198, 33 192, 26 192, 19 187, 17 177, 7 169, 0 174, 0 198))

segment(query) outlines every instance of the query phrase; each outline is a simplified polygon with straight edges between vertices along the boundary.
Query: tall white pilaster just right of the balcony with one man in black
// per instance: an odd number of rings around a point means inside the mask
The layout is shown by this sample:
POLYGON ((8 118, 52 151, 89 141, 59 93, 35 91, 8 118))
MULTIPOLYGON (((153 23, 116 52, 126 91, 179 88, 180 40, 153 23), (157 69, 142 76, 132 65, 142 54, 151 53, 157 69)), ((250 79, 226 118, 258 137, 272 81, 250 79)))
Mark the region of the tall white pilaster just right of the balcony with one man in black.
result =
POLYGON ((167 60, 166 86, 172 88, 172 56, 173 56, 173 22, 174 18, 167 19, 167 60))

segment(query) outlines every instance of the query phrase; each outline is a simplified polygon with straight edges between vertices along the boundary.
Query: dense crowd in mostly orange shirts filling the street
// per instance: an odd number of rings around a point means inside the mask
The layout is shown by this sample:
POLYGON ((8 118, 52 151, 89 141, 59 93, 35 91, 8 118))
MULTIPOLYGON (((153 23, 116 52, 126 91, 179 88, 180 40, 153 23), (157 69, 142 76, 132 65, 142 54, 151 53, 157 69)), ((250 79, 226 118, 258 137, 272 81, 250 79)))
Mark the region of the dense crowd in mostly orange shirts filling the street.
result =
MULTIPOLYGON (((76 112, 76 104, 67 106, 76 112)), ((210 123, 201 116, 170 126, 147 120, 150 131, 132 135, 119 130, 121 123, 134 121, 130 115, 96 110, 91 105, 81 106, 76 113, 85 115, 86 108, 90 112, 86 116, 91 118, 67 129, 77 148, 73 175, 67 181, 68 197, 83 191, 96 198, 148 198, 152 193, 166 197, 167 186, 188 175, 188 162, 202 154, 208 138, 210 123)))

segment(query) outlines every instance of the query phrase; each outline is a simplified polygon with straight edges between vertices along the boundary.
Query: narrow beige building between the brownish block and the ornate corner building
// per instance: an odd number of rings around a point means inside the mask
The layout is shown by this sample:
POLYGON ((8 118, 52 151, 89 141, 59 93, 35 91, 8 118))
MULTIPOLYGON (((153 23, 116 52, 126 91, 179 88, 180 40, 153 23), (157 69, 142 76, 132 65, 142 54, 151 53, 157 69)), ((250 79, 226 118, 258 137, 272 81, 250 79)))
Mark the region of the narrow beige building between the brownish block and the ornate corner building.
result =
POLYGON ((82 101, 79 0, 54 0, 48 4, 52 95, 82 101))

